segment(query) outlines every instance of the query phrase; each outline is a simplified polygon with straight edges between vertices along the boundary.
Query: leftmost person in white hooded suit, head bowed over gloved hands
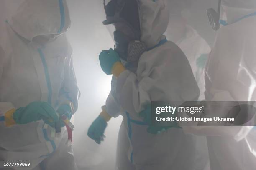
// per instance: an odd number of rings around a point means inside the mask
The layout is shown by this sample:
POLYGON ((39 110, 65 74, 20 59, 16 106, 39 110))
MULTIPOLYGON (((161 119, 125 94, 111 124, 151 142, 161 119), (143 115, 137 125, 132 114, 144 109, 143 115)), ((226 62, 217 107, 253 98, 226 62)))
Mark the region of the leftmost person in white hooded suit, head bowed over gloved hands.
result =
POLYGON ((76 170, 66 127, 54 128, 56 112, 77 110, 69 27, 66 0, 25 0, 1 28, 0 161, 30 163, 10 170, 76 170))

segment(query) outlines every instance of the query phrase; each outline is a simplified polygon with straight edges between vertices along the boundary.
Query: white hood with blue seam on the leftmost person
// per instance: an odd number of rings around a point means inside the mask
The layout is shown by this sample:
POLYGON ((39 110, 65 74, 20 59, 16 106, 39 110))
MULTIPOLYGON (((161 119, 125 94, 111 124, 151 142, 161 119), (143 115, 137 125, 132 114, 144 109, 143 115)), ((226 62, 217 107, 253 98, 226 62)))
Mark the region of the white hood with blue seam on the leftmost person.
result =
POLYGON ((66 32, 71 21, 66 0, 25 0, 8 23, 18 35, 32 41, 38 35, 66 32))

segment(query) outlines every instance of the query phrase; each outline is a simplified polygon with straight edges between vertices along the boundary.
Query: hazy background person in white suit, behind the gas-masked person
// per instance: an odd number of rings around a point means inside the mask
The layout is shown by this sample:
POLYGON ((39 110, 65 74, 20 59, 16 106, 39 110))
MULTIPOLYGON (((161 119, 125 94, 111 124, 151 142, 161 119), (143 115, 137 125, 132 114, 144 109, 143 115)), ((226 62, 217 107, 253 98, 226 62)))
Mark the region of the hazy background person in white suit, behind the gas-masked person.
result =
MULTIPOLYGON (((184 13, 189 11, 190 3, 189 0, 168 0, 170 17, 165 35, 168 40, 178 45, 186 55, 200 89, 198 100, 205 100, 204 67, 211 49, 197 31, 187 23, 187 18, 184 16, 184 13)), ((209 169, 206 138, 197 136, 196 146, 196 169, 209 169)))

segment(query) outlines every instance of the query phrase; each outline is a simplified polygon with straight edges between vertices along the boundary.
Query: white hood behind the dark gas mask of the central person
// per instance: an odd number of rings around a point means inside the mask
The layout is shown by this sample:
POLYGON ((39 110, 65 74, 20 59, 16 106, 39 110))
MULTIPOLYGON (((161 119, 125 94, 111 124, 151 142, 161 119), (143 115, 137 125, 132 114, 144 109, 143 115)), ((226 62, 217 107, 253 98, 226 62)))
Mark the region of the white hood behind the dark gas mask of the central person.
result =
POLYGON ((167 29, 169 10, 166 0, 137 0, 141 27, 141 41, 147 47, 157 45, 167 29))

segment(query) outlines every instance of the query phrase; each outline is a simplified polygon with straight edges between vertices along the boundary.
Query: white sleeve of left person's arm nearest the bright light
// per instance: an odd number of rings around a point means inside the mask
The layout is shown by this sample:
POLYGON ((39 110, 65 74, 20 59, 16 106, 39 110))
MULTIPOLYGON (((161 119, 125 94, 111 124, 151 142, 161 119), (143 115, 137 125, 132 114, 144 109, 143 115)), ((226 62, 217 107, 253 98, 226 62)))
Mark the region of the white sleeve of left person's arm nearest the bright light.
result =
POLYGON ((63 86, 59 92, 59 105, 62 104, 69 104, 70 102, 73 105, 72 113, 76 112, 77 110, 77 102, 78 102, 78 95, 79 89, 77 87, 77 80, 74 72, 73 67, 73 60, 72 60, 72 50, 68 52, 67 60, 65 61, 64 65, 64 81, 63 86))

